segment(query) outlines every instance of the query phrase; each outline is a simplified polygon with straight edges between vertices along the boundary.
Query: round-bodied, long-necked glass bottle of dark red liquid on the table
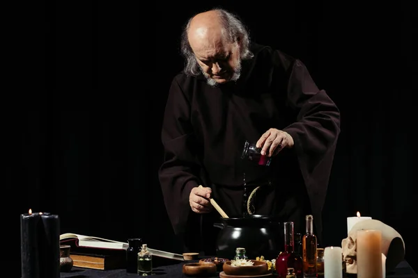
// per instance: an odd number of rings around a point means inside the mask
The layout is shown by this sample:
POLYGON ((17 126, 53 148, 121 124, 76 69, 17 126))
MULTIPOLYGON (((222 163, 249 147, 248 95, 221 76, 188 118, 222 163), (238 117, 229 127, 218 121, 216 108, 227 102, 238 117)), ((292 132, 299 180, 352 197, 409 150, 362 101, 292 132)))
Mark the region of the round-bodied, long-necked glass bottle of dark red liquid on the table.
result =
POLYGON ((294 249, 293 222, 284 222, 284 252, 276 259, 277 277, 286 278, 288 268, 293 268, 297 278, 303 278, 303 261, 294 249))

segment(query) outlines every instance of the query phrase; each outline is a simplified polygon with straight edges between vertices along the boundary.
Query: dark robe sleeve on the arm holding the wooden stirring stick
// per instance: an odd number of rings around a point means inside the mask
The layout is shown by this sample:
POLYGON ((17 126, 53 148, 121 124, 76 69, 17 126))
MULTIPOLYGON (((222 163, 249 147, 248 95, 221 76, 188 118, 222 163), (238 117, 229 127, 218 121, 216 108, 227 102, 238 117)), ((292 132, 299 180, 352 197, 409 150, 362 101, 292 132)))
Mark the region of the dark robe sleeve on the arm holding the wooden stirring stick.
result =
POLYGON ((190 102, 176 79, 171 83, 162 122, 164 160, 159 170, 164 204, 176 235, 184 234, 190 212, 189 194, 201 184, 190 102))

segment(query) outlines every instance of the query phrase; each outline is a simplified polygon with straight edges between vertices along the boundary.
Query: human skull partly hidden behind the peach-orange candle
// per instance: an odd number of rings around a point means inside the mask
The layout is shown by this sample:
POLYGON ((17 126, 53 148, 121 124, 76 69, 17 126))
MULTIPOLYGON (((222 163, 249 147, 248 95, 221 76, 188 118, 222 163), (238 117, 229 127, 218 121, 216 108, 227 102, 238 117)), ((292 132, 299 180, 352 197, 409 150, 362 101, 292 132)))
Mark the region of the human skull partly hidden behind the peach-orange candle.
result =
POLYGON ((392 227, 378 220, 364 220, 357 222, 341 241, 343 260, 347 273, 357 273, 357 231, 380 230, 382 232, 382 254, 386 257, 386 272, 392 272, 405 257, 405 243, 402 236, 392 227))

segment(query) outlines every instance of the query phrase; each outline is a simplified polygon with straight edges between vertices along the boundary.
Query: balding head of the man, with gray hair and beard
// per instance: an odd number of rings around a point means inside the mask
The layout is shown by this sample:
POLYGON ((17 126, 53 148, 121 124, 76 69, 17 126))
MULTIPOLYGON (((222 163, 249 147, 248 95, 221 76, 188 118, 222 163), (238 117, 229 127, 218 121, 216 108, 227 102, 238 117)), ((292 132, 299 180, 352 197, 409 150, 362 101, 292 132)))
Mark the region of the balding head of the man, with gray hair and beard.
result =
POLYGON ((208 83, 237 80, 240 60, 253 57, 249 34, 242 22, 223 9, 209 10, 189 19, 181 38, 185 73, 203 74, 208 83))

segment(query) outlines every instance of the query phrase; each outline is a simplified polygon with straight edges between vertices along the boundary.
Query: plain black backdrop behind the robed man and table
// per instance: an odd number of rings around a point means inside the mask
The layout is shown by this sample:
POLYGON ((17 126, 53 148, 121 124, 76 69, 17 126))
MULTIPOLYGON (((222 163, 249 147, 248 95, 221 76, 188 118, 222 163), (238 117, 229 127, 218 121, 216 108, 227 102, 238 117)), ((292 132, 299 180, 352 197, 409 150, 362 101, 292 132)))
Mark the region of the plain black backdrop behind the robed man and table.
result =
POLYGON ((326 245, 341 245, 346 218, 359 211, 399 231, 418 268, 412 1, 41 3, 8 10, 3 41, 11 261, 20 259, 19 215, 29 208, 59 214, 61 234, 138 236, 178 251, 157 179, 162 114, 183 67, 183 24, 222 5, 253 40, 300 58, 341 109, 326 245))

